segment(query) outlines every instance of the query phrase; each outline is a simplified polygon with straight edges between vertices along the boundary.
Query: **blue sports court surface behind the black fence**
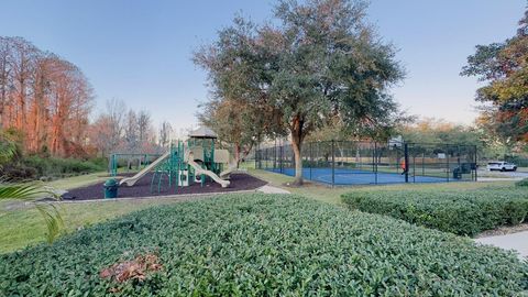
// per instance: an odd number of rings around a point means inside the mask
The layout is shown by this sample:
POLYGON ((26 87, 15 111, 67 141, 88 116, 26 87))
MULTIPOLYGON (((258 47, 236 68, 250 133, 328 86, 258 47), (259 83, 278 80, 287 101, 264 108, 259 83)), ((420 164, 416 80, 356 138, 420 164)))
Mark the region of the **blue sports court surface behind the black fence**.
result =
MULTIPOLYGON (((268 168, 266 170, 280 173, 289 176, 295 176, 294 168, 268 168)), ((302 177, 314 182, 332 184, 332 168, 302 168, 302 177)), ((411 176, 409 175, 409 183, 443 183, 446 177, 432 176, 411 176)), ((364 184, 403 184, 405 183, 405 175, 399 173, 383 173, 377 174, 369 170, 351 169, 351 168, 336 168, 333 184, 336 185, 364 185, 364 184)))

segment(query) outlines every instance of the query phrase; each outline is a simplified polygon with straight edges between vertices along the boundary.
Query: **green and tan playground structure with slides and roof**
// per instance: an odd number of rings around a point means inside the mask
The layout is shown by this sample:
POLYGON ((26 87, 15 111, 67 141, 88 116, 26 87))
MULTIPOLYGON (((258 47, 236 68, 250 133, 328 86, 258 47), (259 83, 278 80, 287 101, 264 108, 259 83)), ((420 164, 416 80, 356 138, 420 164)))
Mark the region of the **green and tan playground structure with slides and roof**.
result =
MULTIPOLYGON (((151 191, 157 188, 160 193, 163 185, 168 185, 168 188, 174 186, 176 190, 193 183, 200 183, 204 186, 208 178, 223 188, 229 187, 230 174, 237 166, 230 165, 227 150, 215 148, 216 139, 216 133, 207 128, 193 131, 187 141, 172 142, 165 154, 134 176, 121 179, 119 185, 134 186, 139 179, 152 172, 151 191)), ((117 173, 114 167, 113 172, 117 173)))

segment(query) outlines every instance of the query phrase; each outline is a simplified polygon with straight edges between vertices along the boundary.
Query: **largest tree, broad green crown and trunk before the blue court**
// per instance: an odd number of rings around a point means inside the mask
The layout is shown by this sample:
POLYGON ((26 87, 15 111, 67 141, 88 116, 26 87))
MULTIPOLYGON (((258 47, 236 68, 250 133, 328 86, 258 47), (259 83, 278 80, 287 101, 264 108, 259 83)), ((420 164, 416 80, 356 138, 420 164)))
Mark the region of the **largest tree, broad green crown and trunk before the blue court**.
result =
POLYGON ((395 50, 365 21, 365 1, 279 1, 274 21, 237 18, 195 62, 213 97, 254 107, 253 124, 270 136, 288 133, 301 184, 305 138, 340 119, 345 128, 388 127, 397 105, 387 89, 404 72, 395 50), (278 23, 276 25, 272 23, 278 23))

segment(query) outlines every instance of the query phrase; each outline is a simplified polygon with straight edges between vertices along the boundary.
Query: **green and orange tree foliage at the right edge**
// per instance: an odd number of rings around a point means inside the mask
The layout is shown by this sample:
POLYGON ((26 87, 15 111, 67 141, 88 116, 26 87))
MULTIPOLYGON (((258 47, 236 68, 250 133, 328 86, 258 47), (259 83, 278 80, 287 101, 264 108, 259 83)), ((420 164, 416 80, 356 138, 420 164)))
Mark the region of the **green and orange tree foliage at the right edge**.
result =
POLYGON ((487 82, 475 99, 488 103, 480 119, 488 131, 506 142, 528 143, 528 10, 514 37, 477 45, 461 75, 487 82))

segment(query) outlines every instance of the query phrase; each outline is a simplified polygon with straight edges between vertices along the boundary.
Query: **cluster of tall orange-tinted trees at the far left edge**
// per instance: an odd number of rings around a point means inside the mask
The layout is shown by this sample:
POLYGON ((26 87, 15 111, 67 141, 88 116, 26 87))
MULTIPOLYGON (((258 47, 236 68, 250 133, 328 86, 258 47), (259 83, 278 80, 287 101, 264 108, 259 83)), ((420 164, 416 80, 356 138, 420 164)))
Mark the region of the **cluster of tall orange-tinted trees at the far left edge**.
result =
POLYGON ((29 153, 85 155, 92 89, 74 64, 22 37, 0 36, 0 128, 29 153))

